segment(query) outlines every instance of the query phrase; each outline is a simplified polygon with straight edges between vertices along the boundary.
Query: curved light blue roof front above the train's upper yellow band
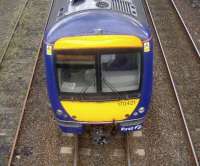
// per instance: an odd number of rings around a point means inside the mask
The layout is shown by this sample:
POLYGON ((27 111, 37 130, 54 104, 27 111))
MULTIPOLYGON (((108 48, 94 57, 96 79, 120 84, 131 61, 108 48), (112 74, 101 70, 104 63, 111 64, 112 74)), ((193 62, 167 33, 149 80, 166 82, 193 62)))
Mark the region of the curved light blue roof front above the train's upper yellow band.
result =
POLYGON ((134 35, 141 39, 150 36, 148 26, 142 25, 133 17, 111 11, 85 11, 72 14, 47 29, 45 41, 54 43, 65 36, 95 35, 95 29, 102 29, 103 34, 134 35))

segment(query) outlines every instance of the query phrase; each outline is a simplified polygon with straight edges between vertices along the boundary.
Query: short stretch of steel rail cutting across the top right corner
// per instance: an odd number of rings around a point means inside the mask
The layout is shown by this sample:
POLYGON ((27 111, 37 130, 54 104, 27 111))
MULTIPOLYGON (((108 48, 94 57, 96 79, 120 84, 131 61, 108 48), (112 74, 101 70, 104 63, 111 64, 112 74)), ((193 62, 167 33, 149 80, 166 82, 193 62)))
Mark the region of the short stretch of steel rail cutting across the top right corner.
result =
POLYGON ((188 29, 188 27, 187 27, 187 25, 186 25, 184 19, 183 19, 183 17, 181 16, 181 13, 180 13, 179 9, 177 8, 176 3, 174 2, 174 0, 170 0, 170 1, 171 1, 171 3, 173 4, 173 6, 174 6, 174 8, 175 8, 175 10, 176 10, 176 13, 177 13, 178 16, 179 16, 179 19, 181 20, 181 23, 183 24, 183 26, 184 26, 184 28, 185 28, 185 30, 186 30, 186 32, 187 32, 187 35, 189 36, 189 38, 190 38, 190 40, 191 40, 191 42, 192 42, 192 44, 193 44, 193 46, 194 46, 194 49, 195 49, 195 51, 197 52, 198 57, 200 58, 200 51, 199 51, 199 49, 198 49, 198 47, 197 47, 195 41, 193 40, 193 37, 192 37, 192 35, 191 35, 191 33, 190 33, 190 31, 189 31, 189 29, 188 29))

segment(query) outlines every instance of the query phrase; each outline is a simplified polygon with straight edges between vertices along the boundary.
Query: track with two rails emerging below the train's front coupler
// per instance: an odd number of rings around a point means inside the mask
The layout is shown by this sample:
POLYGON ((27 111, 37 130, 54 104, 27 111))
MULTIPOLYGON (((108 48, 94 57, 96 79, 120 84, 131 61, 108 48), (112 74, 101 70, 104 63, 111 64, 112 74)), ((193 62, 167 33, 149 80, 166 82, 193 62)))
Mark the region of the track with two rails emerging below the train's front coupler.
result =
MULTIPOLYGON (((115 149, 116 146, 113 146, 113 149, 110 149, 111 153, 107 153, 106 156, 104 156, 106 150, 106 146, 109 145, 94 145, 90 144, 87 148, 81 147, 79 145, 82 141, 85 142, 86 137, 81 138, 81 136, 74 136, 74 148, 73 148, 73 166, 79 166, 79 165, 90 165, 93 163, 94 165, 113 165, 116 164, 116 160, 121 163, 121 165, 126 166, 133 166, 132 160, 131 160, 131 149, 130 149, 130 135, 125 134, 121 138, 123 140, 119 141, 119 143, 123 142, 123 148, 122 149, 115 149), (101 153, 103 152, 103 153, 101 153), (87 154, 86 154, 87 153, 87 154), (93 153, 93 154, 92 154, 93 153), (90 159, 86 158, 86 156, 90 156, 90 159), (93 159, 99 158, 97 161, 92 161, 93 159), (113 157, 115 160, 113 160, 113 157)), ((110 140, 113 141, 113 140, 110 140)), ((88 142, 91 143, 91 140, 88 140, 88 142)), ((109 148, 111 148, 109 146, 109 148)))

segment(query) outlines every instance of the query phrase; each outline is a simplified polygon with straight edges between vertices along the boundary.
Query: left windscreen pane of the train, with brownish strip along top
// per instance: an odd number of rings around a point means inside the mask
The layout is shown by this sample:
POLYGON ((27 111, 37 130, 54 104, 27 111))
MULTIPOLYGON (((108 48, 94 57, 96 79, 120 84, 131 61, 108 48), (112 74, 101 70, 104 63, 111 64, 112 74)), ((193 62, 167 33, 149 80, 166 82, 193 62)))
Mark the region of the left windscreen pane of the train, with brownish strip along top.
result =
POLYGON ((94 55, 58 55, 57 74, 61 92, 96 92, 94 55))

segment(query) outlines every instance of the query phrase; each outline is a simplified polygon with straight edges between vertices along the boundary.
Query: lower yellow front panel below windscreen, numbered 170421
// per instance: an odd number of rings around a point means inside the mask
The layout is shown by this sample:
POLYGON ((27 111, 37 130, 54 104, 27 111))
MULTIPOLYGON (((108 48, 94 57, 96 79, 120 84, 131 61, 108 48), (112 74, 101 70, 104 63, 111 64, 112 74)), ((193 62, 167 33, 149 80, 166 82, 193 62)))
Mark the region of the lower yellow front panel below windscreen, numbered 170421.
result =
POLYGON ((113 122, 127 119, 135 110, 139 99, 106 101, 106 102, 74 102, 61 101, 65 111, 79 122, 113 122))

